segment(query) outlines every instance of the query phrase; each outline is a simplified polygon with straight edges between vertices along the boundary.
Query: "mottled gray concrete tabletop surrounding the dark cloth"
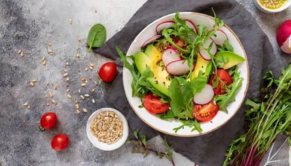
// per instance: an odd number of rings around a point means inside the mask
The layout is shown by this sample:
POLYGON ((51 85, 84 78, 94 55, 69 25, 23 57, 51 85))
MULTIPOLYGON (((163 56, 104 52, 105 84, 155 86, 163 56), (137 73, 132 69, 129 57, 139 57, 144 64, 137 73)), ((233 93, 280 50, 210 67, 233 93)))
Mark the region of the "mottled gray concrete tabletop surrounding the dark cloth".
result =
MULTIPOLYGON (((256 9, 253 1, 238 2, 254 15, 270 38, 275 56, 287 58, 276 45, 275 34, 279 24, 290 19, 291 9, 265 15, 256 9)), ((91 113, 108 107, 103 100, 108 85, 98 86, 94 81, 99 82, 98 68, 110 61, 88 53, 89 24, 103 24, 109 39, 143 3, 145 0, 0 0, 0 165, 170 165, 166 158, 132 154, 131 145, 123 145, 115 151, 100 151, 91 145, 85 132, 91 113), (53 45, 50 47, 48 43, 53 45), (19 49, 23 57, 17 53, 19 49), (54 55, 49 55, 48 49, 53 50, 54 55), (42 65, 42 57, 46 57, 46 66, 42 65), (93 70, 86 71, 91 62, 93 70), (69 82, 62 76, 64 69, 69 73, 69 82), (91 80, 81 87, 80 77, 91 77, 91 80), (30 86, 30 80, 37 80, 35 86, 30 86), (53 89, 53 84, 58 86, 57 90, 53 89), (80 100, 78 89, 82 94, 89 93, 90 97, 80 100), (91 89, 96 91, 91 92, 91 89), (52 104, 50 97, 46 98, 49 91, 57 104, 52 104), (67 93, 72 99, 67 98, 67 93), (80 107, 88 109, 88 113, 77 114, 75 100, 79 100, 80 107), (25 102, 30 109, 24 107, 25 102), (54 130, 41 133, 37 131, 39 118, 47 111, 57 113, 58 125, 54 130), (51 138, 58 133, 67 133, 70 138, 69 148, 60 152, 51 149, 51 138)), ((162 147, 159 137, 151 142, 162 147)), ((177 165, 193 165, 179 154, 175 154, 174 159, 177 165)))

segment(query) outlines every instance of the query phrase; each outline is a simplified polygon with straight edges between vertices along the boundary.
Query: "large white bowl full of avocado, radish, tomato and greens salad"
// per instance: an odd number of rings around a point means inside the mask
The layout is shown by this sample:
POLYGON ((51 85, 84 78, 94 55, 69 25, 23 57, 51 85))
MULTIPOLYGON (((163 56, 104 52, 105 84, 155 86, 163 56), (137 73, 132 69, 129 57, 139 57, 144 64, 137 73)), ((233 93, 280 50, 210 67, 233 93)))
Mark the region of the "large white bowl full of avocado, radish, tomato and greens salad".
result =
POLYGON ((224 21, 177 12, 152 22, 124 55, 123 84, 132 109, 150 127, 200 136, 221 127, 247 92, 247 56, 224 21))

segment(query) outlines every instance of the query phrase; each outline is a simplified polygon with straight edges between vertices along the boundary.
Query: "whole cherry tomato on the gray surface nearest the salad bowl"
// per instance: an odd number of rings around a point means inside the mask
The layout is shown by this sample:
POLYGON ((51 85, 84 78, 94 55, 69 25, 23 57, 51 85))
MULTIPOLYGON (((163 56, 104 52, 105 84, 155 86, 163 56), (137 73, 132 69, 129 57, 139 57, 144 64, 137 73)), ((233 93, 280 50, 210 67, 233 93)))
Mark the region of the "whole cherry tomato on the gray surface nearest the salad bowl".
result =
POLYGON ((107 62, 99 69, 99 77, 103 82, 112 82, 116 77, 117 68, 114 62, 107 62))

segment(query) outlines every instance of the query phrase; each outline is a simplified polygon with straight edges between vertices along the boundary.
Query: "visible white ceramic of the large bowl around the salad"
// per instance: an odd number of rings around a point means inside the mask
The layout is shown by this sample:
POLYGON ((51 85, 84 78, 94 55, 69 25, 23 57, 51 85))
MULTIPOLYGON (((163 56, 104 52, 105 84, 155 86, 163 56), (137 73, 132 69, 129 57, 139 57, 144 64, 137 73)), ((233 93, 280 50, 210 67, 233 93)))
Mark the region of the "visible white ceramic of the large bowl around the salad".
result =
MULTIPOLYGON (((209 28, 209 30, 213 29, 214 18, 208 15, 200 14, 197 12, 180 12, 179 16, 183 19, 190 19, 194 22, 196 26, 203 24, 204 26, 209 28)), ((157 35, 155 27, 161 22, 173 20, 173 17, 175 17, 175 13, 166 15, 165 17, 161 17, 160 19, 153 21, 150 25, 145 27, 141 31, 141 33, 136 36, 126 55, 136 55, 136 53, 139 53, 140 47, 143 42, 145 42, 146 39, 157 35)), ((139 105, 142 104, 141 100, 139 98, 132 97, 132 87, 130 86, 132 82, 132 75, 127 68, 123 68, 123 84, 127 100, 128 102, 130 102, 132 109, 134 109, 136 114, 139 116, 139 118, 141 118, 141 120, 143 120, 143 122, 148 124, 153 129, 156 129, 157 131, 161 131, 172 136, 191 137, 201 136, 202 134, 209 133, 211 131, 214 131, 215 129, 218 129, 236 114, 240 106, 243 104, 243 100, 245 99, 245 95, 247 93, 247 87, 249 82, 249 67, 247 64, 247 55, 245 54, 245 50, 243 49, 243 46, 240 43, 238 37, 227 26, 223 27, 222 30, 224 30, 224 33, 226 33, 229 37, 229 42, 232 44, 234 52, 246 59, 245 62, 238 64, 238 71, 240 71, 240 76, 243 77, 244 80, 240 90, 236 94, 236 101, 230 103, 227 107, 229 113, 218 111, 218 114, 215 116, 215 118, 213 118, 213 120, 211 120, 211 122, 203 122, 201 124, 203 130, 202 133, 199 133, 198 131, 191 132, 191 128, 189 127, 179 129, 179 131, 175 133, 173 129, 181 126, 181 122, 177 122, 174 120, 161 120, 161 118, 158 118, 157 116, 149 113, 144 108, 139 108, 139 105)))

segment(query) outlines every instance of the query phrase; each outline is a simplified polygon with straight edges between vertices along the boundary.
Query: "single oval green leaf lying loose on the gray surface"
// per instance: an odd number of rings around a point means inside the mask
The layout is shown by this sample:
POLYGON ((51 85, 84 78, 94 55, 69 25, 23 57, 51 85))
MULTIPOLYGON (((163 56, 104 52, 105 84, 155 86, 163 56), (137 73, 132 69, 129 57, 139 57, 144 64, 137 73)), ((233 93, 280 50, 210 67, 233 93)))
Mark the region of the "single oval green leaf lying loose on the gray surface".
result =
POLYGON ((102 24, 95 24, 89 30, 87 44, 89 45, 89 53, 92 47, 100 47, 106 39, 106 29, 102 24))

